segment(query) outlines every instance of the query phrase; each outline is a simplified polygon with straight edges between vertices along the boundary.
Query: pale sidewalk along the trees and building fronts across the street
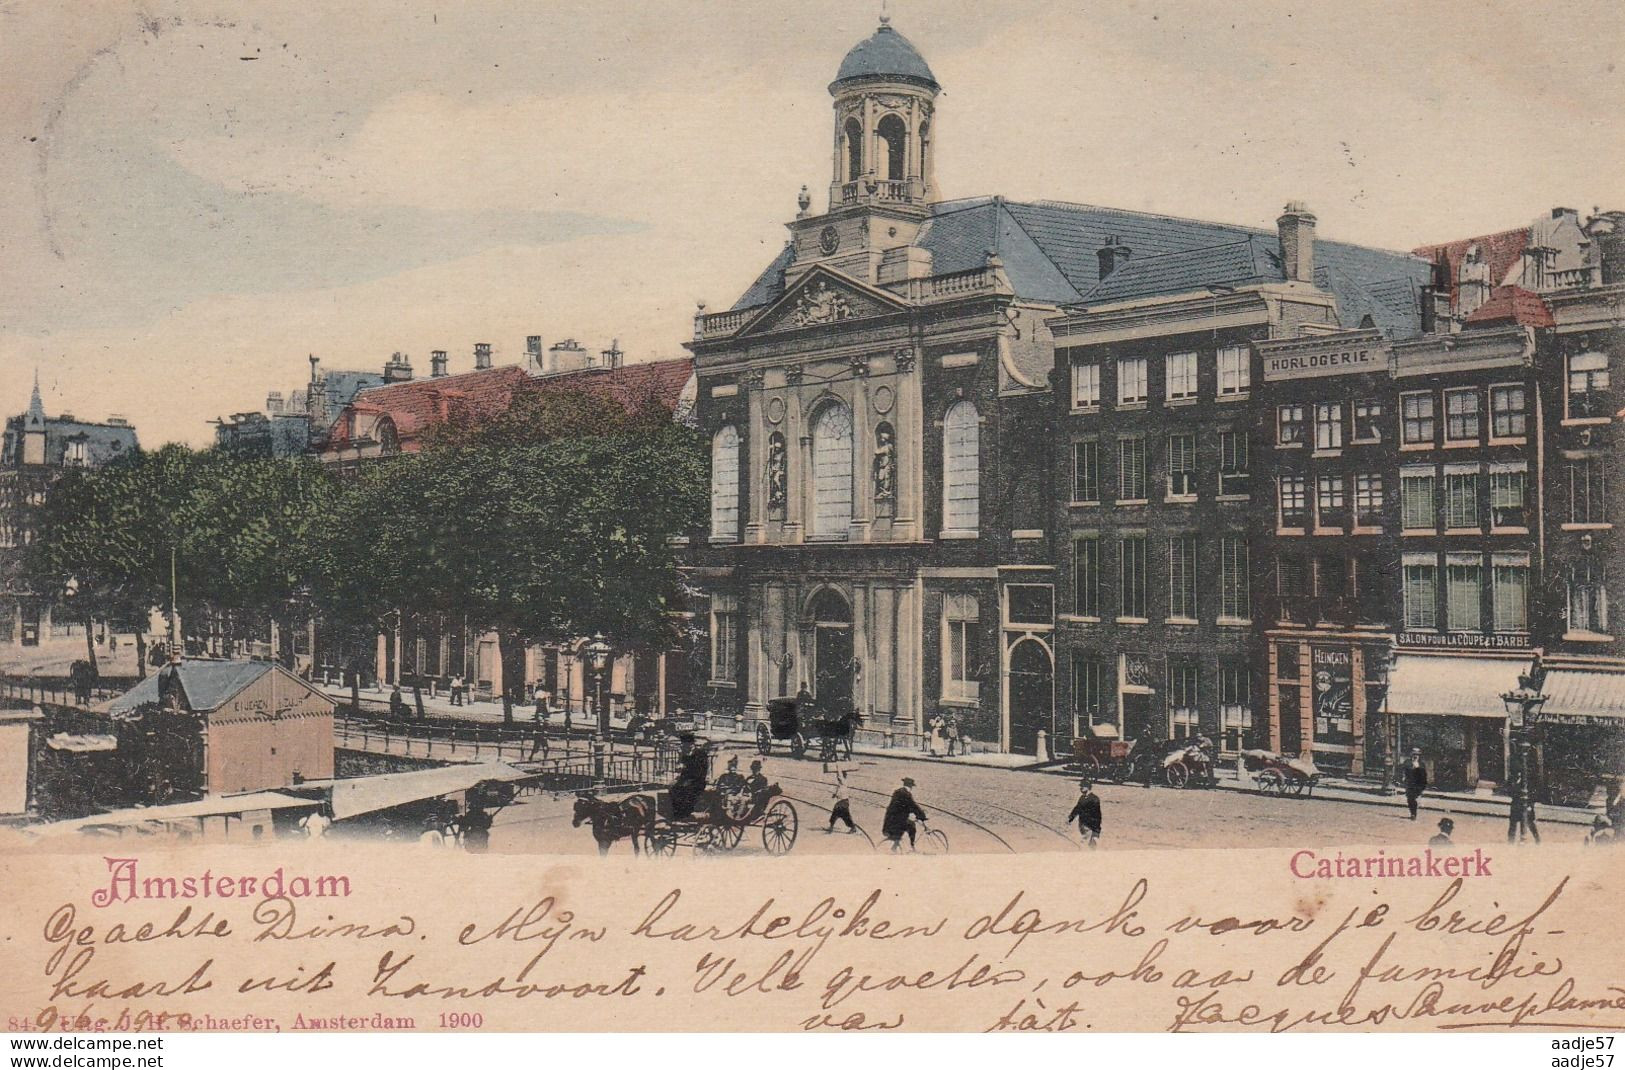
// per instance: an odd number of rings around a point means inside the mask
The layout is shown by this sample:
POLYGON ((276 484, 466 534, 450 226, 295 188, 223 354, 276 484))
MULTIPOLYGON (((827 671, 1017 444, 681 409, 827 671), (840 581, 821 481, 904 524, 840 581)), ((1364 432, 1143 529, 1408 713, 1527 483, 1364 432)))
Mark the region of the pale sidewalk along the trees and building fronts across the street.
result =
MULTIPOLYGON (((327 686, 323 689, 335 699, 346 702, 349 701, 348 688, 327 686)), ((406 699, 408 707, 413 707, 411 693, 401 691, 401 696, 406 699)), ((387 704, 388 691, 372 691, 362 688, 361 701, 362 704, 374 704, 374 706, 387 704)), ((424 694, 422 706, 424 712, 439 717, 457 717, 478 724, 502 724, 500 701, 494 702, 473 701, 468 706, 452 706, 452 701, 444 694, 439 698, 431 698, 429 694, 424 694)), ((535 709, 536 709, 535 706, 515 706, 514 722, 530 724, 535 716, 535 709)), ((588 720, 587 714, 577 714, 574 724, 577 729, 580 729, 585 727, 587 720, 588 720)), ((552 714, 548 724, 562 725, 564 716, 552 714)), ((723 729, 718 725, 707 725, 702 719, 699 730, 712 740, 726 740, 728 743, 746 745, 746 746, 756 745, 754 729, 752 730, 723 729)), ((782 742, 775 740, 774 746, 775 751, 788 753, 788 746, 782 742)), ((1038 774, 1063 776, 1063 777, 1077 776, 1074 771, 1068 771, 1063 768, 1064 759, 1035 763, 1030 755, 1006 755, 999 751, 973 751, 968 755, 956 755, 954 758, 936 758, 912 746, 873 746, 858 743, 852 748, 852 753, 853 756, 861 755, 864 758, 894 758, 900 761, 921 761, 921 763, 946 764, 946 766, 956 766, 956 764, 982 766, 986 769, 1011 769, 1011 771, 1038 772, 1038 774)), ((1258 789, 1253 787, 1251 784, 1243 784, 1242 781, 1238 781, 1235 769, 1224 766, 1219 768, 1219 782, 1216 789, 1224 792, 1258 792, 1258 789)), ((1389 807, 1396 810, 1404 810, 1406 807, 1406 797, 1404 792, 1401 790, 1394 790, 1393 794, 1384 795, 1381 789, 1375 784, 1362 781, 1346 781, 1341 777, 1321 777, 1321 782, 1315 787, 1315 794, 1298 797, 1297 802, 1313 802, 1316 798, 1329 798, 1334 802, 1352 802, 1367 807, 1389 807)), ((1422 808, 1433 815, 1464 813, 1476 816, 1505 816, 1508 810, 1508 800, 1503 795, 1430 790, 1422 797, 1422 808)), ((1544 823, 1576 824, 1591 828, 1591 820, 1596 815, 1597 810, 1589 810, 1584 807, 1552 807, 1544 803, 1539 807, 1539 818, 1544 823)))

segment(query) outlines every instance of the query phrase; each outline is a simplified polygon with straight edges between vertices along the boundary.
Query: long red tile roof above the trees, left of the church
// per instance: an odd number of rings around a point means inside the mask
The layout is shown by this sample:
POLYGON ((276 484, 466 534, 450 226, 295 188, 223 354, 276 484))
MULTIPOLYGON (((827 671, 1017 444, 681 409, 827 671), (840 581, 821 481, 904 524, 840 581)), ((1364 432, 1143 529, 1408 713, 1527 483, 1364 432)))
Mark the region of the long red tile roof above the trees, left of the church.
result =
POLYGON ((694 361, 624 364, 614 371, 578 371, 533 379, 523 368, 505 364, 462 376, 413 379, 362 390, 344 407, 327 436, 327 450, 346 449, 375 437, 379 423, 395 424, 403 452, 421 449, 422 433, 457 416, 484 420, 507 411, 525 392, 583 390, 613 397, 629 411, 645 403, 674 410, 694 361))

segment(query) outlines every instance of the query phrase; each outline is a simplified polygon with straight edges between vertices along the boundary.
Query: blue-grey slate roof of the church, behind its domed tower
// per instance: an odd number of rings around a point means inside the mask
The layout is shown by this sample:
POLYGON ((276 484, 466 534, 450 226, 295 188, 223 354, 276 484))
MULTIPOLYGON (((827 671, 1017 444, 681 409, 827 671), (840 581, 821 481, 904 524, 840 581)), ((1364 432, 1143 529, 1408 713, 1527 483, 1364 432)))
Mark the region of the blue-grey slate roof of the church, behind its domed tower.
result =
MULTIPOLYGON (((1089 306, 1209 285, 1285 281, 1272 229, 1063 202, 982 197, 936 203, 916 244, 931 252, 936 275, 978 268, 991 249, 1019 298, 1050 304, 1089 306), (1108 237, 1128 246, 1131 257, 1102 281, 1097 252, 1108 237)), ((786 247, 733 307, 767 304, 783 294, 791 262, 786 247)), ((1432 276, 1427 260, 1316 237, 1315 262, 1315 281, 1337 298, 1344 325, 1370 317, 1388 337, 1420 332, 1419 293, 1432 276)))

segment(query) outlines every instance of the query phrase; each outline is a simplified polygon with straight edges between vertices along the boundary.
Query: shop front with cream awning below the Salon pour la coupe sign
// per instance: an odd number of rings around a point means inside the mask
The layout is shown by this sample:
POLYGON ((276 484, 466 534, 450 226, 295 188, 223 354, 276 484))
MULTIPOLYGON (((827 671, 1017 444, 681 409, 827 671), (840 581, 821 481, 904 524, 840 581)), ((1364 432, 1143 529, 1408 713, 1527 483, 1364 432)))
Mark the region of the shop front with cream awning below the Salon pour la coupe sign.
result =
POLYGON ((1526 657, 1401 652, 1388 678, 1396 761, 1422 751, 1428 782, 1474 790, 1506 781, 1506 706, 1526 657))

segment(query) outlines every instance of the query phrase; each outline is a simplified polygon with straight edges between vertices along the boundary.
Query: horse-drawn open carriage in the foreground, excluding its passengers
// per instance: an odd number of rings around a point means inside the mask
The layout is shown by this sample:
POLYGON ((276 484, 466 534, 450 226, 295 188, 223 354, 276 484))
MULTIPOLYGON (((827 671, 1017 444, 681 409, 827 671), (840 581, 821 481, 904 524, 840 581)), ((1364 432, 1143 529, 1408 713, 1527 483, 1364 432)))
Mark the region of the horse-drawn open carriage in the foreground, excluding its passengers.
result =
POLYGON ((712 787, 687 816, 673 813, 671 792, 665 789, 614 800, 582 792, 572 824, 583 821, 592 823, 598 854, 609 854, 618 839, 630 839, 634 854, 647 847, 650 855, 673 855, 678 847, 733 850, 749 828, 760 829, 762 850, 782 855, 795 847, 801 826, 795 805, 777 784, 756 792, 712 787))

